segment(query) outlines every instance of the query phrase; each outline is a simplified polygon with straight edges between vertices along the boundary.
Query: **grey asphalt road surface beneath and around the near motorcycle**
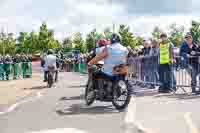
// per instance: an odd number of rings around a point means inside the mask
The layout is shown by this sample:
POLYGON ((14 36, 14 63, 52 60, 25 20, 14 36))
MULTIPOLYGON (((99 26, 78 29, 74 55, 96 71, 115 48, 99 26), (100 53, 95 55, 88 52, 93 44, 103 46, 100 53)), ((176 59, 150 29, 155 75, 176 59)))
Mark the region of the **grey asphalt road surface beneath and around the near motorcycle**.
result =
POLYGON ((85 106, 86 75, 62 73, 59 79, 55 88, 0 115, 0 133, 131 133, 125 125, 134 123, 135 116, 137 123, 159 133, 200 130, 199 96, 141 95, 132 98, 126 111, 118 112, 111 103, 85 106))

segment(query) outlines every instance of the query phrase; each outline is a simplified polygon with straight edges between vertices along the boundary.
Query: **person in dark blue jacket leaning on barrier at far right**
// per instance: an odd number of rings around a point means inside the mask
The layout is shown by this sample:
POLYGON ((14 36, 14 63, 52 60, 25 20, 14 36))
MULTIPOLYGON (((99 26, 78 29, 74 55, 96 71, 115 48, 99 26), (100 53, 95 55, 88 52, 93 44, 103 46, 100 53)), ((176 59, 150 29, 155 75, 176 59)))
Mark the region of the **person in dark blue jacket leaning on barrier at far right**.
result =
POLYGON ((182 68, 186 68, 191 74, 192 93, 199 94, 200 91, 196 91, 196 77, 199 73, 198 57, 200 56, 200 49, 193 44, 192 35, 187 34, 185 36, 185 41, 181 44, 180 56, 182 68))

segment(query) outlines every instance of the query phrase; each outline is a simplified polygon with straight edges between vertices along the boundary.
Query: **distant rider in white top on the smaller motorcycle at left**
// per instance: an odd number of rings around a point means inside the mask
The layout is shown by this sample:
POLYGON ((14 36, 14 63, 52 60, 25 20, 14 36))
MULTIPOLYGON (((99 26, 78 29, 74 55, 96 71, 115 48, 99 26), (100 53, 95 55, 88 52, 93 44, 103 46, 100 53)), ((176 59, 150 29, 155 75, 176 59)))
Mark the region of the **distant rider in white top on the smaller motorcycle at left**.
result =
POLYGON ((55 82, 58 79, 57 57, 54 55, 54 51, 49 49, 47 56, 44 57, 44 82, 47 82, 48 66, 54 66, 55 68, 55 82))

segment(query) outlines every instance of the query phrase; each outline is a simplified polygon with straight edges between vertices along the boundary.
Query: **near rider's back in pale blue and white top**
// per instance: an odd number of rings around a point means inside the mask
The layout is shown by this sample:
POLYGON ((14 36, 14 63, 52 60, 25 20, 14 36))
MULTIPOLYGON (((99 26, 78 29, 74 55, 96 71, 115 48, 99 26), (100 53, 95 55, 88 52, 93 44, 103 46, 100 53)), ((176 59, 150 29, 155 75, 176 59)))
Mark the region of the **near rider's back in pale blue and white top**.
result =
POLYGON ((128 50, 120 43, 114 43, 107 46, 108 56, 104 59, 103 72, 112 75, 113 68, 116 65, 126 64, 128 50))

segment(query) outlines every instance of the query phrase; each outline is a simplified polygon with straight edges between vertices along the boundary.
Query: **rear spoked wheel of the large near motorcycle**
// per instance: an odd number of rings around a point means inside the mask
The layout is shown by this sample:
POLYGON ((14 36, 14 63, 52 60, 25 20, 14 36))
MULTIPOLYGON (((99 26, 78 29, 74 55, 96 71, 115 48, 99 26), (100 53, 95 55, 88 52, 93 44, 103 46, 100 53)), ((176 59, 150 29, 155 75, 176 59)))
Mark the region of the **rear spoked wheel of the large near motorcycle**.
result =
POLYGON ((117 110, 125 109, 131 99, 131 92, 126 81, 120 80, 113 87, 112 104, 117 110))

